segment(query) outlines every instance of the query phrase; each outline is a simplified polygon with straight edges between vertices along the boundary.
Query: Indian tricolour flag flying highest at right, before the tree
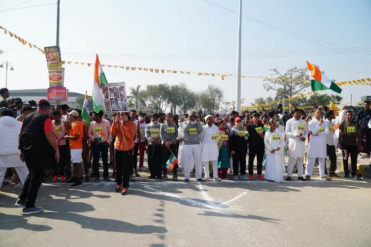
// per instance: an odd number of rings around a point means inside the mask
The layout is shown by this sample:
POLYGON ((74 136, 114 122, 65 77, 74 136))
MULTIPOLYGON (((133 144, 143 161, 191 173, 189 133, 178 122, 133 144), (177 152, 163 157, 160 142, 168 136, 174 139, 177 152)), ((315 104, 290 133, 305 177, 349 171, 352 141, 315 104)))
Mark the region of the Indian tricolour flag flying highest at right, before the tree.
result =
POLYGON ((311 80, 312 91, 331 89, 341 93, 341 88, 332 82, 319 68, 307 61, 309 78, 311 80))

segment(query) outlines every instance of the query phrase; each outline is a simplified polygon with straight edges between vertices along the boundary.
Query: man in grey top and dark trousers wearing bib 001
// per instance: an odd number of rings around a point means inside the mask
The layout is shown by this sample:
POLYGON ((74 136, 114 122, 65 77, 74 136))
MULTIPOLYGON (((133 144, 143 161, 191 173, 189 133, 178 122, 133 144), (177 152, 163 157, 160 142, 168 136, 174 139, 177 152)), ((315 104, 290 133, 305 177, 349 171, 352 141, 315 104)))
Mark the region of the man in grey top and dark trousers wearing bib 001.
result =
MULTIPOLYGON (((164 168, 163 180, 168 178, 168 168, 167 161, 173 154, 175 158, 178 158, 178 148, 177 148, 177 137, 178 137, 178 126, 173 123, 173 115, 168 113, 166 115, 166 121, 161 124, 160 127, 160 137, 162 140, 162 162, 164 168)), ((178 180, 177 175, 178 164, 173 168, 173 180, 178 180)))

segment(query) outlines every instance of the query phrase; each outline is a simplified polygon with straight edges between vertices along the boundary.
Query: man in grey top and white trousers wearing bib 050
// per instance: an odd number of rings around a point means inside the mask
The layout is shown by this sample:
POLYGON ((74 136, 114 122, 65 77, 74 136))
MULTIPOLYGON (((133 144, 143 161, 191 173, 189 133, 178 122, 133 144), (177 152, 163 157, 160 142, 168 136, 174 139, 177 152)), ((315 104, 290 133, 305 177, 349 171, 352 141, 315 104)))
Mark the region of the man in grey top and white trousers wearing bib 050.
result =
POLYGON ((184 124, 184 146, 182 153, 182 164, 184 165, 185 182, 189 181, 190 167, 192 158, 196 166, 196 179, 199 182, 204 182, 201 178, 202 163, 201 163, 201 145, 200 133, 202 132, 202 124, 200 120, 196 121, 196 112, 189 112, 188 121, 184 124))

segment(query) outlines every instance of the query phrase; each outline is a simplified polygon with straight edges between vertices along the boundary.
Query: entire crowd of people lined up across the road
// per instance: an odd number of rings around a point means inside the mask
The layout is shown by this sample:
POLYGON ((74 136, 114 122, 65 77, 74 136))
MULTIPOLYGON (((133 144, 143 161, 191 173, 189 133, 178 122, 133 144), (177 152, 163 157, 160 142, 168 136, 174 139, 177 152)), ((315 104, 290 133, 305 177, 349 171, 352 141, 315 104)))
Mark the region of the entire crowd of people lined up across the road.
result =
POLYGON ((270 111, 232 111, 226 116, 200 116, 194 111, 181 117, 171 113, 149 116, 133 109, 113 113, 109 118, 100 110, 91 112, 87 123, 80 109, 65 104, 52 108, 46 100, 25 105, 19 98, 6 100, 6 88, 1 88, 0 94, 0 135, 4 138, 0 142, 0 186, 4 176, 12 173, 22 187, 15 204, 23 207, 22 214, 43 210, 35 206, 35 201, 47 175, 51 175, 51 182, 70 183, 71 188, 91 179, 101 182, 100 160, 103 181, 114 179, 115 190, 126 195, 129 182, 140 176, 138 171, 146 169, 149 179, 168 180, 168 172, 172 172, 171 179, 177 181, 181 167, 185 182, 193 171, 198 182, 219 182, 228 179, 228 173, 233 174, 233 180, 283 182, 284 157, 288 156, 286 181, 292 180, 295 166, 297 179, 310 181, 317 159, 321 178, 330 180, 339 177, 335 173, 339 148, 344 177, 351 174, 361 179, 357 174, 360 150, 366 154, 364 158, 370 158, 370 101, 364 102, 364 109, 357 115, 345 105, 337 117, 326 106, 314 107, 306 114, 295 107, 287 113, 278 105, 270 111), (145 154, 147 167, 143 164, 145 154), (176 165, 168 168, 169 163, 176 165))

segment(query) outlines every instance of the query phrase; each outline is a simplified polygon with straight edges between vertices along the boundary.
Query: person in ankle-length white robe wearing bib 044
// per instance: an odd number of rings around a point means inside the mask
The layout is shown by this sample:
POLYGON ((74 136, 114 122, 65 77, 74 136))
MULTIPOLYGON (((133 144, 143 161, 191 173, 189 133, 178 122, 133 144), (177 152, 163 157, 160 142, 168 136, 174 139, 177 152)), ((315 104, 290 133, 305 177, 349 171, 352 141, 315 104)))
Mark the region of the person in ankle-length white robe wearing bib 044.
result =
POLYGON ((276 122, 272 122, 270 131, 265 132, 264 135, 266 155, 264 177, 278 183, 283 182, 283 173, 285 172, 283 160, 284 137, 284 133, 278 130, 276 122))

